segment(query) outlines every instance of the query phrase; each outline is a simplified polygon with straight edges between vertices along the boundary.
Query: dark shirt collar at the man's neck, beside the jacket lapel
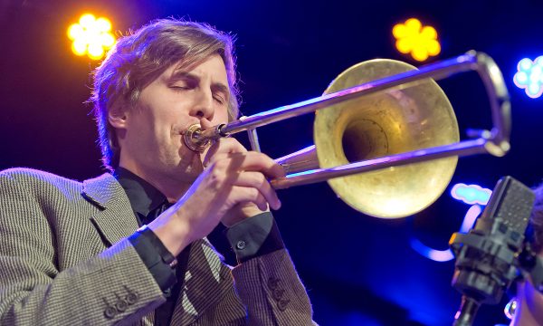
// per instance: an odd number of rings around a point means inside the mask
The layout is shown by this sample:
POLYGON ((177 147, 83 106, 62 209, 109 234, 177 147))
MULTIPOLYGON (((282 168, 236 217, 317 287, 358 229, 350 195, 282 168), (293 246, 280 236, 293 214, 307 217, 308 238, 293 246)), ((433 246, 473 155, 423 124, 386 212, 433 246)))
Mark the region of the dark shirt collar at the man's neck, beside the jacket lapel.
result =
POLYGON ((167 197, 156 187, 126 168, 116 168, 113 175, 127 193, 130 206, 136 213, 147 216, 151 210, 167 201, 167 197))

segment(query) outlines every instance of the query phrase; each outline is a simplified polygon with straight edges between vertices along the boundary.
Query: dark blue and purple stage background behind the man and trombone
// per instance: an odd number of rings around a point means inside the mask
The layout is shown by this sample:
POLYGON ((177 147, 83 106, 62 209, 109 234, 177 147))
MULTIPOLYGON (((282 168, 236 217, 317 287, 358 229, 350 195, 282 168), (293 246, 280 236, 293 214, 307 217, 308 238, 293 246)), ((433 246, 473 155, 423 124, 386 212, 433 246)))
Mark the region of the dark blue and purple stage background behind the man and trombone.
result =
MULTIPOLYGON (((475 49, 499 64, 512 101, 510 153, 461 158, 458 182, 492 188, 511 175, 540 181, 541 100, 512 83, 523 57, 542 54, 540 1, 249 1, 0 0, 0 168, 32 167, 75 179, 102 172, 90 116, 90 71, 96 62, 71 53, 67 27, 83 11, 107 16, 123 33, 151 19, 205 21, 237 35, 242 110, 252 114, 319 96, 339 72, 374 58, 413 62, 395 52, 392 26, 416 16, 432 24, 443 51, 432 61, 475 49)), ((462 74, 440 82, 461 132, 490 128, 481 82, 462 74)), ((462 134, 462 137, 464 135, 462 134)), ((312 143, 312 117, 260 129, 272 158, 312 143)), ((465 138, 465 137, 464 137, 465 138)), ((468 206, 445 194, 405 219, 363 216, 326 183, 280 193, 275 213, 322 325, 448 325, 460 303, 450 283, 453 262, 416 254, 416 238, 446 249, 468 206)), ((476 325, 506 323, 484 306, 476 325)))

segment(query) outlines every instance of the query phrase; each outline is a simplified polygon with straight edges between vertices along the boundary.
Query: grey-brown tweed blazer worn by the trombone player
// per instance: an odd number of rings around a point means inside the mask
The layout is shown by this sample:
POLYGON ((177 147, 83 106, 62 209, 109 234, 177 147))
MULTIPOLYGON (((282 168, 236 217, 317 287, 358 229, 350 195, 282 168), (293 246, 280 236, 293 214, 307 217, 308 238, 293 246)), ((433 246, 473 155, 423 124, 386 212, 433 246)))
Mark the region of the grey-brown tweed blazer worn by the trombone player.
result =
MULTIPOLYGON (((0 324, 153 324, 166 299, 127 240, 137 228, 110 174, 80 183, 0 172, 0 324)), ((202 239, 172 324, 311 325, 311 313, 286 251, 232 268, 202 239)))

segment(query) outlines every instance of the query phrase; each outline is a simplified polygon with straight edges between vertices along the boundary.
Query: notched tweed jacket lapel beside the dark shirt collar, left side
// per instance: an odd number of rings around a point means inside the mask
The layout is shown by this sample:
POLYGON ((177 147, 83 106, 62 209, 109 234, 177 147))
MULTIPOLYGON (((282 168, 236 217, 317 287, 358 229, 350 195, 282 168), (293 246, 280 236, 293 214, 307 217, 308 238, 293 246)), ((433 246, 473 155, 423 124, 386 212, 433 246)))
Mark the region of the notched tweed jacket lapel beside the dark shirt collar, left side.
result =
POLYGON ((92 216, 91 220, 108 246, 132 235, 138 229, 129 197, 117 179, 109 173, 83 181, 81 195, 100 208, 100 212, 92 216))

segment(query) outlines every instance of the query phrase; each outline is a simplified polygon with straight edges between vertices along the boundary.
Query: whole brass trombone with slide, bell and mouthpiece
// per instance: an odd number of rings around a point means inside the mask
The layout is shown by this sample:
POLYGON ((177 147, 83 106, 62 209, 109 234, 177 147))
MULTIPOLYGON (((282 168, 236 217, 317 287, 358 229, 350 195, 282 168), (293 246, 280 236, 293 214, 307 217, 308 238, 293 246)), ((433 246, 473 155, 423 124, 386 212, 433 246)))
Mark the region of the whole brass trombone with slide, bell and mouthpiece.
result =
POLYGON ((315 145, 276 161, 286 177, 276 189, 328 180, 338 197, 369 216, 398 218, 430 206, 450 183, 458 157, 505 155, 510 149, 510 100, 503 76, 474 51, 416 69, 376 59, 342 72, 324 95, 267 110, 211 129, 189 127, 184 140, 202 151, 210 141, 315 111, 315 145), (478 72, 491 107, 492 129, 470 129, 460 141, 451 103, 434 80, 478 72), (432 160, 429 162, 429 160, 432 160))

